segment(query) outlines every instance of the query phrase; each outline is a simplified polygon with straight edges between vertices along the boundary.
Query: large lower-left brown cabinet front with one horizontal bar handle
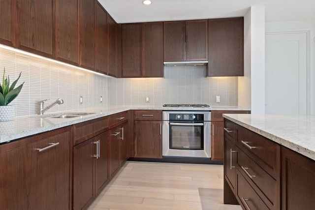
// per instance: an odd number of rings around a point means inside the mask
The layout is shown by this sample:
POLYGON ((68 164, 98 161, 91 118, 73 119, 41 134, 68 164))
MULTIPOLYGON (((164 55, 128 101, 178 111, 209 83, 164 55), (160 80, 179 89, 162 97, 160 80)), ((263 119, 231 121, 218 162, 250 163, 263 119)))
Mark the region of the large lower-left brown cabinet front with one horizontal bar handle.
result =
POLYGON ((71 128, 64 127, 0 146, 1 209, 72 209, 71 128))

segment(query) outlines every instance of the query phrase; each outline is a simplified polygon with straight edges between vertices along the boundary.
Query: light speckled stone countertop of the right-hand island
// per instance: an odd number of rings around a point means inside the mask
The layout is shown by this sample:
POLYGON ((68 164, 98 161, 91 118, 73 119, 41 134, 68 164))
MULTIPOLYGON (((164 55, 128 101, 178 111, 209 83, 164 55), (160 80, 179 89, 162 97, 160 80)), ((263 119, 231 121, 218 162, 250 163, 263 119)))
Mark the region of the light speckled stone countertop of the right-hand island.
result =
POLYGON ((223 117, 315 160, 314 115, 223 114, 223 117))

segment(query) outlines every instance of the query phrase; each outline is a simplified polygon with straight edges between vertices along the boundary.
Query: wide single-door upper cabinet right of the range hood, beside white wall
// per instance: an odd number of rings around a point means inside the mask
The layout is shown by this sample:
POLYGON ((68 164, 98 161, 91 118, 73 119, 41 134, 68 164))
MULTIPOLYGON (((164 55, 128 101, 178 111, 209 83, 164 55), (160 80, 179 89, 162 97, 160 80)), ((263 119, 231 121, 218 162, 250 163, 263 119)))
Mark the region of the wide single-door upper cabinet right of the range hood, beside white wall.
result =
POLYGON ((208 76, 244 76, 244 18, 208 20, 208 76))

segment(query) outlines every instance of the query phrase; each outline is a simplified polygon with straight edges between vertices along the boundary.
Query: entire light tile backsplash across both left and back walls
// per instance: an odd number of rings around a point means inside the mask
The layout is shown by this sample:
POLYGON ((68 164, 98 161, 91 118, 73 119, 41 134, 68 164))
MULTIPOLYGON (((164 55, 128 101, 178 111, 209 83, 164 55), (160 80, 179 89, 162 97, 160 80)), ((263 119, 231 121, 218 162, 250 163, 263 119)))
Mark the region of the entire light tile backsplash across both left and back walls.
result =
POLYGON ((17 85, 25 82, 19 96, 10 103, 16 107, 16 116, 36 114, 38 101, 47 98, 50 100, 45 107, 57 98, 64 101, 47 113, 101 105, 238 104, 237 77, 205 77, 205 66, 167 66, 164 78, 117 79, 0 48, 0 76, 3 67, 11 84, 20 72, 17 85), (220 95, 220 103, 216 103, 216 95, 220 95), (83 96, 81 105, 79 96, 83 96), (145 102, 146 96, 149 103, 145 102))

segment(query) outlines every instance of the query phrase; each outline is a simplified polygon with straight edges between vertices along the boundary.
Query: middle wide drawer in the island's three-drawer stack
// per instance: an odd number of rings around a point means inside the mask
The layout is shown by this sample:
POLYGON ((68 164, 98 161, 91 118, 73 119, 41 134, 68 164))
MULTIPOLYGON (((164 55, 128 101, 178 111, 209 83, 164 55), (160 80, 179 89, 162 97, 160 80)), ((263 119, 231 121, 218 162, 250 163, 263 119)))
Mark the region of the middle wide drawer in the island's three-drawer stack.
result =
POLYGON ((247 178, 265 203, 272 209, 279 209, 280 180, 276 181, 266 171, 259 167, 243 151, 239 151, 237 168, 247 178))

